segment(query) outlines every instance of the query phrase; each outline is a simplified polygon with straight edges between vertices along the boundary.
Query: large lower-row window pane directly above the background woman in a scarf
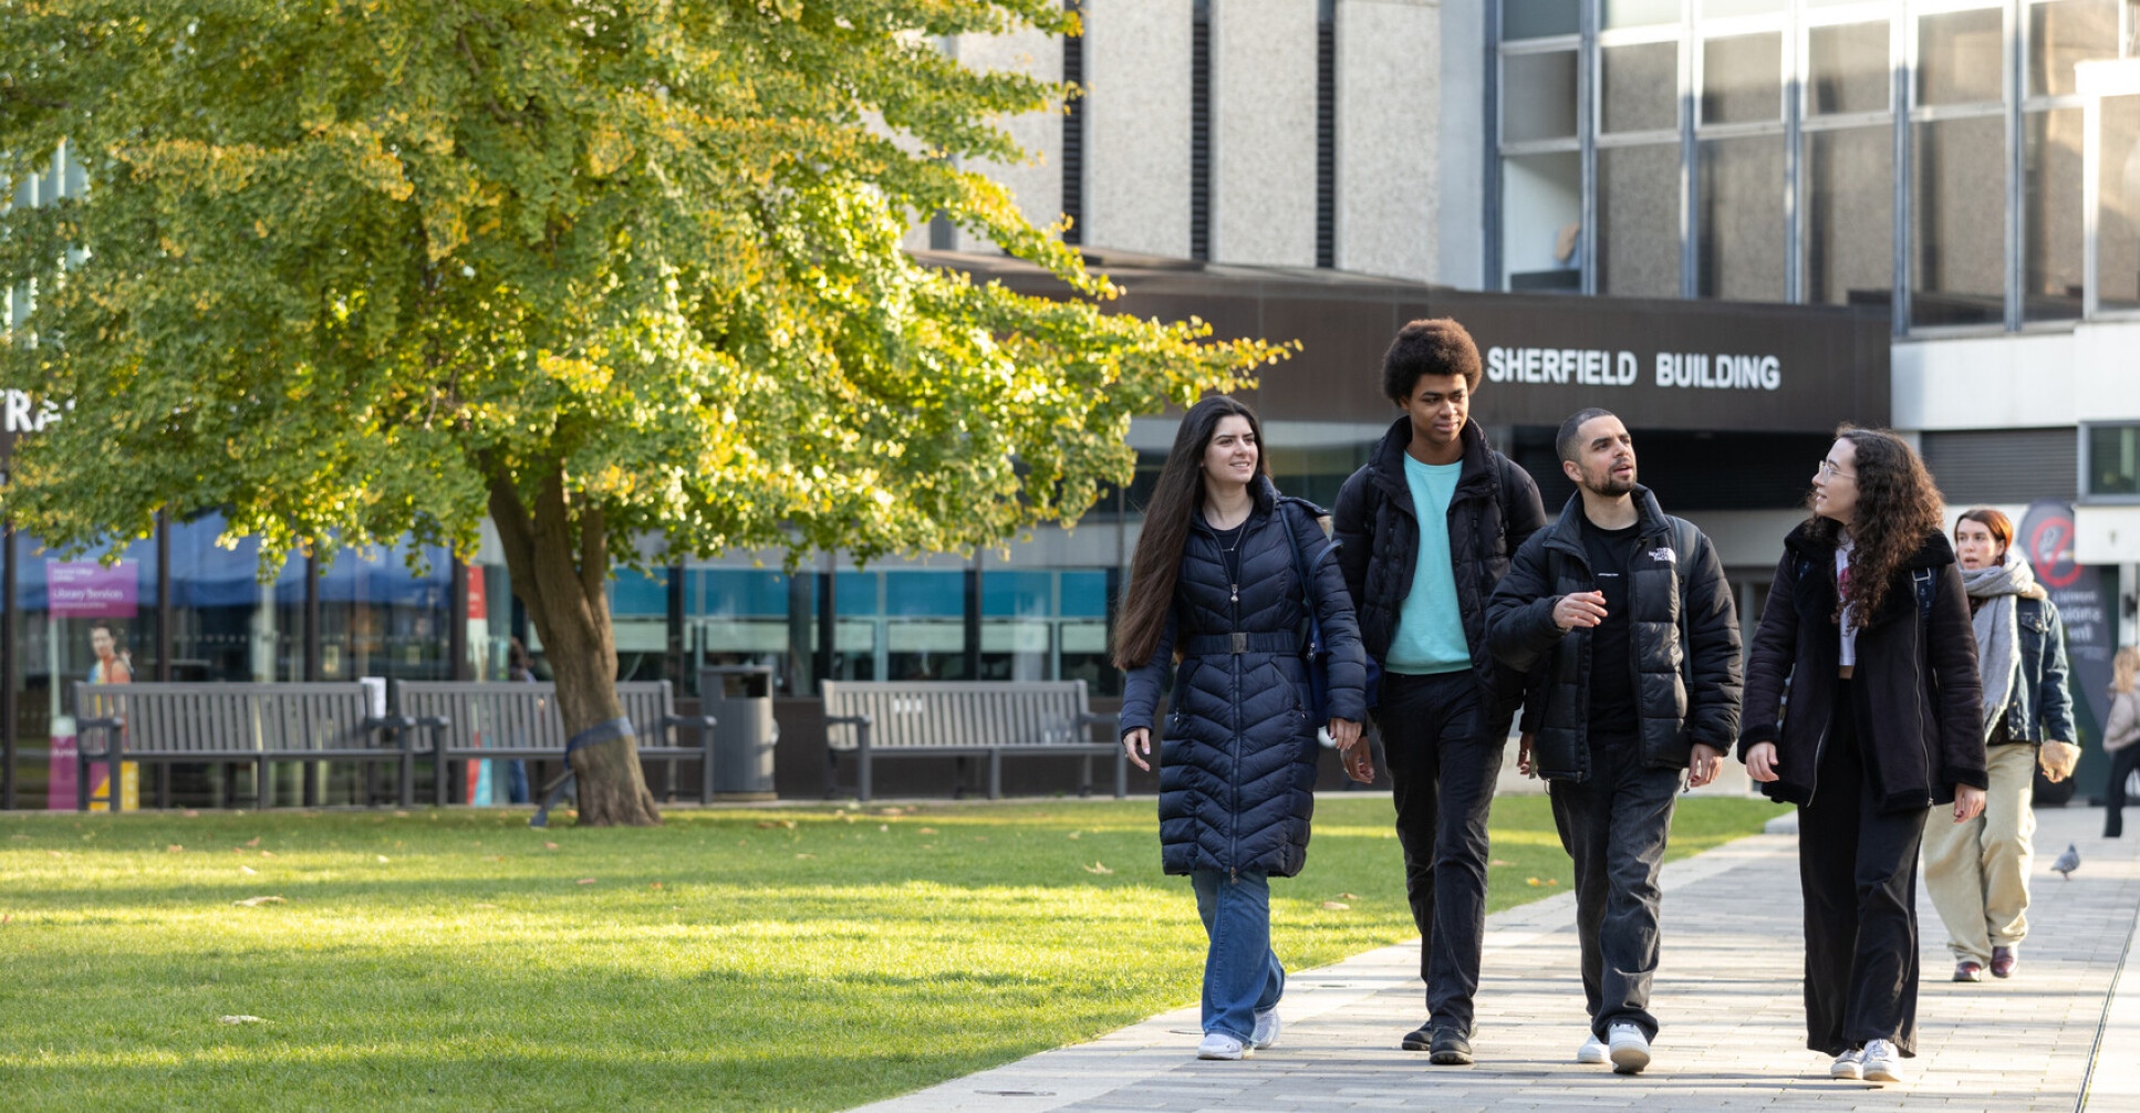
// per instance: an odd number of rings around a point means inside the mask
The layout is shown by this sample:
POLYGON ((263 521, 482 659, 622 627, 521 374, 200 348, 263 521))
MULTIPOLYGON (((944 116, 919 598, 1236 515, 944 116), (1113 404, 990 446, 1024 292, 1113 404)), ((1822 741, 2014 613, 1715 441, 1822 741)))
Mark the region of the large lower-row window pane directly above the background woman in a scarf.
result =
POLYGON ((2005 319, 2005 118, 1939 120, 1911 128, 1915 184, 1911 323, 2005 319))

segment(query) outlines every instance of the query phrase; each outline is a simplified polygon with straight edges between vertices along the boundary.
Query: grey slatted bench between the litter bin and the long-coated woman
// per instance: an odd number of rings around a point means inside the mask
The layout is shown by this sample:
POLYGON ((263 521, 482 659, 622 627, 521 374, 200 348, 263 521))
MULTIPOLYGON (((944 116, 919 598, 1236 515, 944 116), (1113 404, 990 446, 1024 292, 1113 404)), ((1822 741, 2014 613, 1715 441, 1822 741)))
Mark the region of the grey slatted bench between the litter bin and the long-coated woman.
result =
POLYGON ((1094 715, 1085 681, 824 681, 826 796, 837 788, 841 751, 854 753, 856 790, 871 790, 882 758, 987 758, 989 798, 1004 794, 1006 756, 1085 758, 1081 794, 1091 792, 1091 760, 1115 758, 1115 796, 1130 794, 1130 760, 1091 728, 1117 723, 1094 715))

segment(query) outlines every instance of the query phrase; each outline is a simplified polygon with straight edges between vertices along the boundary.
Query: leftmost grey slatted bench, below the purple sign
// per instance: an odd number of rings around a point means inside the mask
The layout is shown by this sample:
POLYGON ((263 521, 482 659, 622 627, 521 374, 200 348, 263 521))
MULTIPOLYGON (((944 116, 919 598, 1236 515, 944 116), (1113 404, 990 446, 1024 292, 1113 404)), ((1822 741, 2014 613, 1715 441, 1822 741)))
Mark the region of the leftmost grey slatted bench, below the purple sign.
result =
MULTIPOLYGON (((259 807, 274 807, 274 762, 394 762, 400 801, 415 788, 413 723, 374 717, 362 683, 75 683, 75 807, 90 809, 90 762, 220 764, 225 798, 238 766, 259 779, 259 807), (92 745, 90 738, 101 738, 92 745), (398 745, 396 745, 398 738, 398 745)), ((116 766, 113 766, 116 768, 116 766)), ((366 764, 368 779, 370 764, 366 764)), ((116 777, 113 777, 116 779, 116 777)))

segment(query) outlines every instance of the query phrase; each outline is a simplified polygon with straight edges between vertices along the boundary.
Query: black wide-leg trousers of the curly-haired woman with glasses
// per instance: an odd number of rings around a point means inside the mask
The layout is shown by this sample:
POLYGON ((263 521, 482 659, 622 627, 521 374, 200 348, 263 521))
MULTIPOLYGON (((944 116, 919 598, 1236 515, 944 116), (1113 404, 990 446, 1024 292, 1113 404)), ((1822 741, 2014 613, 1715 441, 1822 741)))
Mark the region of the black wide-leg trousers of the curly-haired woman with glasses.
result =
POLYGON ((1868 1040, 1917 1053, 1917 850, 1928 807, 1881 813, 1860 734, 1858 691, 1836 715, 1798 809, 1806 895, 1806 1047, 1840 1055, 1868 1040))

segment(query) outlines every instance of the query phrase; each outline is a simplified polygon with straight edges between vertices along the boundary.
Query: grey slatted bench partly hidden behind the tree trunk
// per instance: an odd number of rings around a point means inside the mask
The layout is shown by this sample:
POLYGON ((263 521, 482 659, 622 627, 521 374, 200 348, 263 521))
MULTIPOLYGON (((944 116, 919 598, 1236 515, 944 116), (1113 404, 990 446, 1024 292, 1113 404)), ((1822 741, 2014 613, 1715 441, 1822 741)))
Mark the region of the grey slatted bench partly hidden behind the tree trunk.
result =
MULTIPOLYGON (((702 798, 713 801, 713 717, 676 715, 668 681, 616 685, 625 719, 638 736, 640 758, 700 758, 702 798), (676 728, 698 728, 698 745, 674 745, 676 728)), ((394 681, 394 711, 424 726, 439 760, 437 803, 445 805, 445 768, 452 762, 563 760, 565 719, 554 683, 526 681, 394 681)), ((567 768, 569 775, 569 768, 567 768)), ((550 790, 563 788, 559 777, 550 790)), ((670 768, 674 781, 674 766, 670 768)), ((537 824, 539 826, 539 824, 537 824)))

